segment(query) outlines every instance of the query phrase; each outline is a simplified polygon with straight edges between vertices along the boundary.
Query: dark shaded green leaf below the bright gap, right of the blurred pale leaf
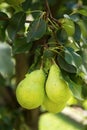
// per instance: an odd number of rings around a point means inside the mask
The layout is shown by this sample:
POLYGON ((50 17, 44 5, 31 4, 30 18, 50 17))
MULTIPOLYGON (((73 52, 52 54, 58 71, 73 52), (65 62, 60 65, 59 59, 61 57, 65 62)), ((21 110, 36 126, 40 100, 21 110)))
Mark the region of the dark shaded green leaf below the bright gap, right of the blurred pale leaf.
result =
POLYGON ((30 51, 32 47, 32 43, 27 43, 26 37, 17 37, 13 42, 13 53, 24 53, 26 51, 30 51))

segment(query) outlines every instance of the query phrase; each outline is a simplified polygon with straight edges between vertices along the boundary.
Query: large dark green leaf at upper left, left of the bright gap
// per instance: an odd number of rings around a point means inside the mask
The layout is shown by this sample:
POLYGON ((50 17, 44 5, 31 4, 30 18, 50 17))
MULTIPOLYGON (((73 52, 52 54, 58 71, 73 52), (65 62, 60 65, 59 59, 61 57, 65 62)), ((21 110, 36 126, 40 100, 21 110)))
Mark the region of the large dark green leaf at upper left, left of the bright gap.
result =
POLYGON ((15 39, 18 31, 20 31, 25 24, 26 14, 24 12, 18 12, 12 16, 9 25, 7 27, 7 32, 11 40, 15 39))

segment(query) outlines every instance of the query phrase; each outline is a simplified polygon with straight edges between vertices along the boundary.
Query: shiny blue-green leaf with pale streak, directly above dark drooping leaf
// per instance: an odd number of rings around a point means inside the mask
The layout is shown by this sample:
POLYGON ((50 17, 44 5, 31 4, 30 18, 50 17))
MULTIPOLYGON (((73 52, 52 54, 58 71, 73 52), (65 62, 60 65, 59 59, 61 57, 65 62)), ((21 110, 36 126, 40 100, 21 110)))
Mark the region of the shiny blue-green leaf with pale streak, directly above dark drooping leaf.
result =
POLYGON ((81 56, 69 47, 65 49, 65 61, 68 64, 75 66, 77 69, 82 64, 81 56))

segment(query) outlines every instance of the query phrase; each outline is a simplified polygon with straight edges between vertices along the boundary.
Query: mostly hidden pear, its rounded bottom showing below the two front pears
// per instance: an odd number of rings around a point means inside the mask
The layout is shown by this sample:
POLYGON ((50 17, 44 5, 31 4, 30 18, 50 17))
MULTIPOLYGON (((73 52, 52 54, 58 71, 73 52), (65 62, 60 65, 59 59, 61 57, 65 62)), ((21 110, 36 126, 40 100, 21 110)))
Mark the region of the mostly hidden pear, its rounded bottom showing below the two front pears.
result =
POLYGON ((51 113, 58 113, 58 112, 61 112, 65 106, 66 106, 65 102, 59 101, 58 103, 54 103, 47 96, 45 96, 45 99, 43 102, 43 107, 47 111, 49 111, 51 113))

